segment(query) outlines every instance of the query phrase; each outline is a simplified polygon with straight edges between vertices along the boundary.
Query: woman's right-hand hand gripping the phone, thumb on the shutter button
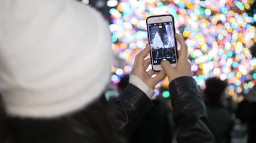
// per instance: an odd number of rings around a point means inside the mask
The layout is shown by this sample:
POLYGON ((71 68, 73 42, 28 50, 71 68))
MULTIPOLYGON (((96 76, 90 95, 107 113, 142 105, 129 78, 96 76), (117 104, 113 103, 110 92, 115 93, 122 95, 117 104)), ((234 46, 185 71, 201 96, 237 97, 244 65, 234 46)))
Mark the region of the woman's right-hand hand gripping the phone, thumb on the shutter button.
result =
POLYGON ((169 82, 171 82, 173 79, 176 79, 177 77, 192 76, 191 64, 187 58, 188 46, 186 45, 182 36, 176 33, 175 37, 181 46, 176 67, 171 67, 169 61, 161 61, 162 69, 167 74, 169 82))

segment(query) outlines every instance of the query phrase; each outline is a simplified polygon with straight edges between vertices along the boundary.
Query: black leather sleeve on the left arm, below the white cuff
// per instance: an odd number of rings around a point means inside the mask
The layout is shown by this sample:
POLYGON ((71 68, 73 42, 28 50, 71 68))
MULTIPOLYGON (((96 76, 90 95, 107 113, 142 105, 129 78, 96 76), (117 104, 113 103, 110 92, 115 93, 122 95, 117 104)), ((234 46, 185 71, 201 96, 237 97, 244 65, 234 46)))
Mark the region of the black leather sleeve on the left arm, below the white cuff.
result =
POLYGON ((152 101, 136 86, 129 84, 115 101, 116 122, 124 136, 131 135, 139 119, 152 107, 152 101))

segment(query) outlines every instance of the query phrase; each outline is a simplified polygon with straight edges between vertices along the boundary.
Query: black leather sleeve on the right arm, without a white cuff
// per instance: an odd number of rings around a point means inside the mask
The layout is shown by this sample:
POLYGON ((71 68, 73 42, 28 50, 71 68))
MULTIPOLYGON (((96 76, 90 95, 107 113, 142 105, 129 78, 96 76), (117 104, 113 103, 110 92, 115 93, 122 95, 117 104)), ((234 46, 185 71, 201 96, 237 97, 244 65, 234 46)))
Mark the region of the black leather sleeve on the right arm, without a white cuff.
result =
POLYGON ((170 83, 169 89, 177 142, 215 142, 195 80, 188 76, 179 77, 170 83))

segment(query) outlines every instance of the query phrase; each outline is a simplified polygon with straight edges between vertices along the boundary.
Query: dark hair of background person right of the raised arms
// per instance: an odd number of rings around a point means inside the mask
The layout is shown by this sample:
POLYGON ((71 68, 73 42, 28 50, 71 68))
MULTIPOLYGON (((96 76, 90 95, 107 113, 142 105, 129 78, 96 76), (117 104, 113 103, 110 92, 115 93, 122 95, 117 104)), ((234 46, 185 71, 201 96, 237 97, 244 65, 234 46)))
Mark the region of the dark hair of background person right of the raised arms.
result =
POLYGON ((204 95, 206 95, 208 100, 219 101, 225 88, 227 88, 227 82, 219 79, 219 77, 210 77, 206 80, 204 95))

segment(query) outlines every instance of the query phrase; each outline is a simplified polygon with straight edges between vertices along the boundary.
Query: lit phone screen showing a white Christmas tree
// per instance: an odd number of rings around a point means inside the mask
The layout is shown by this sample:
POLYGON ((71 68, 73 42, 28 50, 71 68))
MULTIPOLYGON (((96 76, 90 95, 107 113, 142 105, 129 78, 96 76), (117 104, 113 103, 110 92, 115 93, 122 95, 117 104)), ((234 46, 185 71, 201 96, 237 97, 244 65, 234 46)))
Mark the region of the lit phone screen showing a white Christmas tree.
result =
POLYGON ((173 27, 171 21, 149 24, 152 64, 161 64, 163 59, 171 64, 177 63, 173 27))

